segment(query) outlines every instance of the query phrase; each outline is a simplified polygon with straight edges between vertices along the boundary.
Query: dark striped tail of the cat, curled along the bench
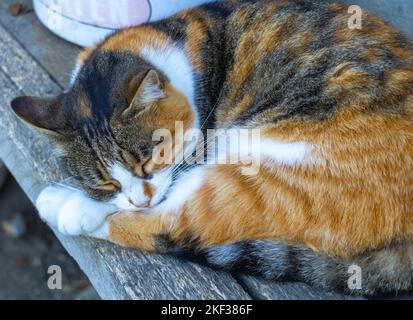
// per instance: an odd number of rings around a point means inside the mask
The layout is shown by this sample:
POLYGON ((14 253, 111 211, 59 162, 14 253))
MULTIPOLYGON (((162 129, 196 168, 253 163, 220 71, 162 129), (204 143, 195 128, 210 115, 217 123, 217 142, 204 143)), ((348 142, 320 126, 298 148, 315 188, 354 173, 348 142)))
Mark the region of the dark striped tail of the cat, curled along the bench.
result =
POLYGON ((203 250, 209 264, 249 269, 270 279, 294 279, 327 290, 377 295, 413 288, 413 243, 394 244, 351 260, 274 241, 245 241, 203 250))

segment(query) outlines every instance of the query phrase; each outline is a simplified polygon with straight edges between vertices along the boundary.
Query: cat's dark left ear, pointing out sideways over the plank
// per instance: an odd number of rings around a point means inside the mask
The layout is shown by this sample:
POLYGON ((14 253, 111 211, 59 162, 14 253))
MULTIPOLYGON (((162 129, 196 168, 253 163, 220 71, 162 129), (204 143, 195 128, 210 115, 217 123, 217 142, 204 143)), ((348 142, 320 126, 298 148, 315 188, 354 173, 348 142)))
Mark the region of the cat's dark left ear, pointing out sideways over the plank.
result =
POLYGON ((11 107, 21 120, 37 129, 58 133, 66 128, 67 115, 57 97, 20 97, 11 102, 11 107))

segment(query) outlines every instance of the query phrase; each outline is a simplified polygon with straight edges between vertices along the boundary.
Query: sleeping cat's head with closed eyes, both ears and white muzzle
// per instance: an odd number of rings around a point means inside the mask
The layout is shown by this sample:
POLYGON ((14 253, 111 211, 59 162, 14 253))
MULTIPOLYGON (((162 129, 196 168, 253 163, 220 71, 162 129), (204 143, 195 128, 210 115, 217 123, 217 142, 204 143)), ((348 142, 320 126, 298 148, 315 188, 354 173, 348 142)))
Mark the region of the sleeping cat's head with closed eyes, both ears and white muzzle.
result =
POLYGON ((96 51, 68 92, 20 97, 12 108, 51 137, 69 174, 87 193, 124 210, 164 199, 176 159, 159 146, 178 148, 176 122, 185 130, 195 121, 188 99, 167 77, 126 52, 96 51), (159 129, 170 136, 154 137, 159 129))

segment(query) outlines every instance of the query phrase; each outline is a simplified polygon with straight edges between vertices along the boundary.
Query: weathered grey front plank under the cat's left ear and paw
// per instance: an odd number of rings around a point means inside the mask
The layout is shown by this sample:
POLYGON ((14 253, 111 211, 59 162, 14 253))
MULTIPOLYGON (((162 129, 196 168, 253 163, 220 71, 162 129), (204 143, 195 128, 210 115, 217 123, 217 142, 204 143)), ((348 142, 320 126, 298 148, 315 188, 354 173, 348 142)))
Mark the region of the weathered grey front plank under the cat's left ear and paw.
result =
MULTIPOLYGON (((21 93, 57 92, 53 82, 0 27, 0 158, 34 200, 64 179, 45 139, 21 124, 9 103, 21 93)), ((249 299, 229 274, 171 257, 149 255, 86 238, 57 236, 107 299, 249 299)))

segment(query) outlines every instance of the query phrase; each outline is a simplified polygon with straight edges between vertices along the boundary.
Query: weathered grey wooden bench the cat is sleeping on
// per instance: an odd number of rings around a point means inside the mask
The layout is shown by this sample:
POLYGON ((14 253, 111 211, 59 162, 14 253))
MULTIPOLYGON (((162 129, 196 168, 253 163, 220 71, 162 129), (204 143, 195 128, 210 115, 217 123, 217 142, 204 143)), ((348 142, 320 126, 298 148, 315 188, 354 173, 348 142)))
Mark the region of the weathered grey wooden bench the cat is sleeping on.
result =
MULTIPOLYGON (((65 177, 45 139, 21 124, 10 101, 19 95, 62 90, 79 48, 58 39, 33 12, 12 17, 12 0, 0 3, 0 159, 34 201, 65 177)), ((30 1, 21 1, 30 6, 30 1)), ((56 233, 104 299, 349 299, 301 283, 265 281, 141 253, 89 238, 56 233)))

